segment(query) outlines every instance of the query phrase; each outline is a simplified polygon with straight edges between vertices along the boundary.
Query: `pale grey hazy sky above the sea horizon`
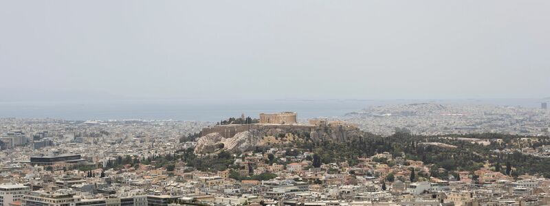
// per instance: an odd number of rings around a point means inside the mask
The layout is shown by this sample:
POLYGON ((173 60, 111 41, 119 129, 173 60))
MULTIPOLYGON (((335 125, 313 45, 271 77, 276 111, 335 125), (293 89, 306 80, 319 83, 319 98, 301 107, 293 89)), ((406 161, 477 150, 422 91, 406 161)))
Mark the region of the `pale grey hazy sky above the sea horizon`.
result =
POLYGON ((0 77, 4 101, 544 98, 550 1, 0 1, 0 77))

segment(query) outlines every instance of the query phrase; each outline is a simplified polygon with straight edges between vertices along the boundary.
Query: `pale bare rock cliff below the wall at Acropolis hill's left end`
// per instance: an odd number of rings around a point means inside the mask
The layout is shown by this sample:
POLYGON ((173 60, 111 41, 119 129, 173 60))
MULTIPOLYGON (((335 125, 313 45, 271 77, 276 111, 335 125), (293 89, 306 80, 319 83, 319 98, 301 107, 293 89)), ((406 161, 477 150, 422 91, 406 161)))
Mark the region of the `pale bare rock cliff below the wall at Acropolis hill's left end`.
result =
POLYGON ((223 138, 219 133, 210 133, 199 138, 195 146, 195 154, 212 153, 222 148, 229 152, 245 152, 252 150, 260 141, 261 137, 252 135, 248 131, 236 133, 232 138, 223 138))

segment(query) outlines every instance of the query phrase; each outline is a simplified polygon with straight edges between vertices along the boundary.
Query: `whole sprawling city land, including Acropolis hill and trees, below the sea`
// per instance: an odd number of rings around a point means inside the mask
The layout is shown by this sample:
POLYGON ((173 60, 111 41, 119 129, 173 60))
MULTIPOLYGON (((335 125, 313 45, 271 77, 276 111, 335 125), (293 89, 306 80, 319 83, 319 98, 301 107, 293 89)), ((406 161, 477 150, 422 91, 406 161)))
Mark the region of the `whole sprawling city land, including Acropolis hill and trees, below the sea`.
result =
POLYGON ((0 206, 550 205, 550 111, 0 119, 0 206))

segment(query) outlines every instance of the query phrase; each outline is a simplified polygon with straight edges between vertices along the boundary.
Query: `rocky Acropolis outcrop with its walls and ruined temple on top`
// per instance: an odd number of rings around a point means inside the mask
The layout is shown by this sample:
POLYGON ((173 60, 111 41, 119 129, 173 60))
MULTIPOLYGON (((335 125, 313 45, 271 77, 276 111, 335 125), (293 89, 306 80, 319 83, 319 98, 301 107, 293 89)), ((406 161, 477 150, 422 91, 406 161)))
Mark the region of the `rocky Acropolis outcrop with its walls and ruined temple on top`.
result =
POLYGON ((309 119, 308 124, 299 124, 296 113, 261 113, 256 124, 216 125, 201 130, 195 152, 199 154, 214 152, 219 148, 233 152, 250 150, 254 146, 283 144, 296 138, 306 141, 332 139, 347 141, 362 137, 361 130, 354 124, 327 119, 309 119))

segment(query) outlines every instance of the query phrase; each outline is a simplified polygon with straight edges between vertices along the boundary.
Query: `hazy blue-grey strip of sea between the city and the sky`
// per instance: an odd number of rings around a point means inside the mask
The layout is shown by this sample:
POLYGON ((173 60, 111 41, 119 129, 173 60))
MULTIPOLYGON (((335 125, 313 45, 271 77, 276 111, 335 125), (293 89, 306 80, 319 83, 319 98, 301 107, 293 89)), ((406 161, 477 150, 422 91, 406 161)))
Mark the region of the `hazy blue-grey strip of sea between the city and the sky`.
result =
POLYGON ((384 104, 494 104, 540 108, 542 99, 467 100, 103 100, 0 102, 0 117, 66 120, 156 119, 219 122, 228 117, 253 118, 259 113, 294 111, 298 119, 342 117, 369 106, 384 104))

